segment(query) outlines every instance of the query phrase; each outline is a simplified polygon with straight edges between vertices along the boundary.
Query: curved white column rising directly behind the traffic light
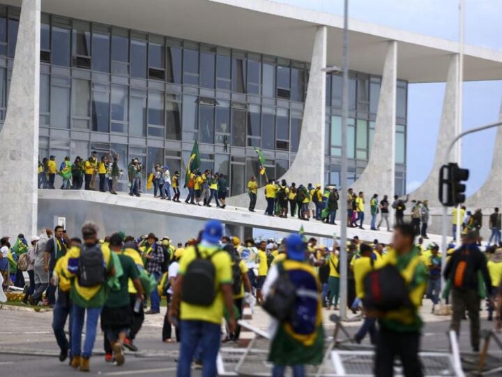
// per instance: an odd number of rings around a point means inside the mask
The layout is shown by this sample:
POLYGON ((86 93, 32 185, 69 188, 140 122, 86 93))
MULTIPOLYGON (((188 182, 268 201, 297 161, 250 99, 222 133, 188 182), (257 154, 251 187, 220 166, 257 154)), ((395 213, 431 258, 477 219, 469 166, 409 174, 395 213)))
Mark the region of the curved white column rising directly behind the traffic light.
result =
MULTIPOLYGON (((448 145, 450 145, 453 135, 457 133, 456 124, 458 117, 458 70, 459 56, 453 54, 450 57, 446 89, 443 99, 443 111, 441 112, 441 124, 439 126, 438 140, 436 144, 436 156, 434 165, 429 173, 429 177, 415 191, 410 193, 410 197, 416 200, 429 200, 429 207, 441 207, 438 198, 439 190, 439 168, 443 165, 444 156, 448 145)), ((453 148, 450 154, 450 161, 457 161, 457 149, 453 148)), ((502 161, 499 160, 499 161, 502 161)))

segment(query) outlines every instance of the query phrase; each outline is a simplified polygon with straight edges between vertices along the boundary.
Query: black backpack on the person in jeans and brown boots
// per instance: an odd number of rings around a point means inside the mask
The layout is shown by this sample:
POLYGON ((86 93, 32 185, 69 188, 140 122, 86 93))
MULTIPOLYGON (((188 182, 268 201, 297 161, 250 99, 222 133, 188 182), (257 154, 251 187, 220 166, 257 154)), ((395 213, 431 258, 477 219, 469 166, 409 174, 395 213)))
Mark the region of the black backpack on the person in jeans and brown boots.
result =
POLYGON ((100 245, 82 247, 77 277, 79 286, 82 287, 95 287, 105 283, 105 258, 100 245))

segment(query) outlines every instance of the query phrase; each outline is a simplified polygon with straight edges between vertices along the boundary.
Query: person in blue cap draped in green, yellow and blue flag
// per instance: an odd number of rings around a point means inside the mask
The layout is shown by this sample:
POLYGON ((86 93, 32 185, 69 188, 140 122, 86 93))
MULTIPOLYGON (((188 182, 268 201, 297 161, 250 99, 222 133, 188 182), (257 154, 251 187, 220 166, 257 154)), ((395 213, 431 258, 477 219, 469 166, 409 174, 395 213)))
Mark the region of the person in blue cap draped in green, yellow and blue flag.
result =
POLYGON ((271 267, 264 285, 264 309, 271 314, 268 361, 274 377, 284 376, 286 367, 293 369, 294 377, 305 376, 305 365, 323 359, 321 283, 314 267, 305 262, 306 251, 301 235, 289 236, 286 260, 271 267), (287 295, 287 302, 278 292, 287 295))

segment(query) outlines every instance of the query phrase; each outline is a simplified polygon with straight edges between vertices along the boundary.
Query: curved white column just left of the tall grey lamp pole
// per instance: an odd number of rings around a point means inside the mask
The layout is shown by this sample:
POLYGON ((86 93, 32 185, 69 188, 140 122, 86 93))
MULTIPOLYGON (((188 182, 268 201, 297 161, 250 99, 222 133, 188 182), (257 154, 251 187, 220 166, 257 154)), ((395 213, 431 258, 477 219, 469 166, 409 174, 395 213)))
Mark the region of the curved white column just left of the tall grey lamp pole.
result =
MULTIPOLYGON (((286 179, 288 184, 324 184, 324 129, 326 118, 326 26, 318 26, 314 37, 312 61, 307 87, 307 98, 303 110, 303 120, 298 153, 289 170, 278 179, 286 179)), ((250 177, 247 177, 250 178, 250 177)), ((228 198, 229 205, 248 207, 247 194, 228 198)), ((263 191, 258 193, 257 209, 265 209, 263 191)))

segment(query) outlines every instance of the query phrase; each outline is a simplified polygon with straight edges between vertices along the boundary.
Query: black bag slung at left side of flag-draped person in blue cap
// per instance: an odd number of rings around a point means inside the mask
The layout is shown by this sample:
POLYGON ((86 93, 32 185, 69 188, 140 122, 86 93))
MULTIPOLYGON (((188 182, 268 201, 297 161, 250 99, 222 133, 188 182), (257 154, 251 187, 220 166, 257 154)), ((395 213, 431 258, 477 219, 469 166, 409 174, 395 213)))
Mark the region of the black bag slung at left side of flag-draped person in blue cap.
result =
POLYGON ((261 307, 280 322, 291 318, 296 302, 296 286, 284 271, 282 263, 277 263, 279 277, 274 281, 271 290, 265 297, 261 307))

